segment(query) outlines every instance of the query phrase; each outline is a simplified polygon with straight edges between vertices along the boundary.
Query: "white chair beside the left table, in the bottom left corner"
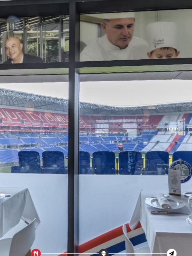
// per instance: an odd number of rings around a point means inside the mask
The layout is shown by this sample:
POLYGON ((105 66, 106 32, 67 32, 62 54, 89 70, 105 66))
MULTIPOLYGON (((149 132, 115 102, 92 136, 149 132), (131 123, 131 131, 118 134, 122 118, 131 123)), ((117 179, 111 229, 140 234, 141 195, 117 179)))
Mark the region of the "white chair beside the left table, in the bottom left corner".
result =
MULTIPOLYGON (((0 240, 0 255, 25 256, 35 240, 35 219, 12 238, 0 240)), ((30 254, 31 255, 31 254, 30 254)))

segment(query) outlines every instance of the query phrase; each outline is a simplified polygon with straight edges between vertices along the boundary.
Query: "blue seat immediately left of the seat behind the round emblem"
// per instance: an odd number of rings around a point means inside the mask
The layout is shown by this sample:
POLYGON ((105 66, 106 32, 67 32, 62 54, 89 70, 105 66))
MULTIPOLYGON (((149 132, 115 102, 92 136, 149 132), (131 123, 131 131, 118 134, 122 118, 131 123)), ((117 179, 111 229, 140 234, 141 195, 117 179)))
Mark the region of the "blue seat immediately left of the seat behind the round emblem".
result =
POLYGON ((169 154, 166 151, 149 151, 145 155, 145 172, 149 175, 168 174, 169 154))

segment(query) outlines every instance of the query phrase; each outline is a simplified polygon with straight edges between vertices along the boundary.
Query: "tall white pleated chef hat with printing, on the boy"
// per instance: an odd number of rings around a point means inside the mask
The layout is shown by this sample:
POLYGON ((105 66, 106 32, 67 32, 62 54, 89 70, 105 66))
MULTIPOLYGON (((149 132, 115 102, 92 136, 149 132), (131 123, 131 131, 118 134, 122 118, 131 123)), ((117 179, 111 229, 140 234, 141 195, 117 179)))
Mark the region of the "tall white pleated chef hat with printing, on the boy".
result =
POLYGON ((177 50, 177 27, 174 22, 154 22, 146 27, 149 52, 161 47, 177 50))

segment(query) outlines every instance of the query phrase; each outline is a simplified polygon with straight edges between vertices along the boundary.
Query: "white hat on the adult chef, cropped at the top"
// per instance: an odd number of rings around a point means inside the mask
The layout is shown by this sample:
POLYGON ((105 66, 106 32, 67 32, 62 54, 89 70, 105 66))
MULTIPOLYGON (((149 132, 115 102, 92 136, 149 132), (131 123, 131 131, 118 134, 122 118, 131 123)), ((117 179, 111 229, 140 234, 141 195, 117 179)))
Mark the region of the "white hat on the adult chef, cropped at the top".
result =
POLYGON ((91 17, 104 19, 135 18, 135 12, 106 12, 90 14, 91 17))

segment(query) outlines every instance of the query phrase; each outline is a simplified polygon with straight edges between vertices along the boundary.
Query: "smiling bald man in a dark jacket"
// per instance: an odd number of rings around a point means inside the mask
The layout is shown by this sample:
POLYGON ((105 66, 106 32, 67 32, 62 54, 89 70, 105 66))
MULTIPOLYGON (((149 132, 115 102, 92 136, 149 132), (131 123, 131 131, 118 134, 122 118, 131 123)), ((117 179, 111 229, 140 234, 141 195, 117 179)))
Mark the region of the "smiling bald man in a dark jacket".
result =
POLYGON ((9 37, 5 42, 6 55, 9 58, 3 64, 42 63, 40 57, 23 53, 23 44, 17 37, 9 37))

